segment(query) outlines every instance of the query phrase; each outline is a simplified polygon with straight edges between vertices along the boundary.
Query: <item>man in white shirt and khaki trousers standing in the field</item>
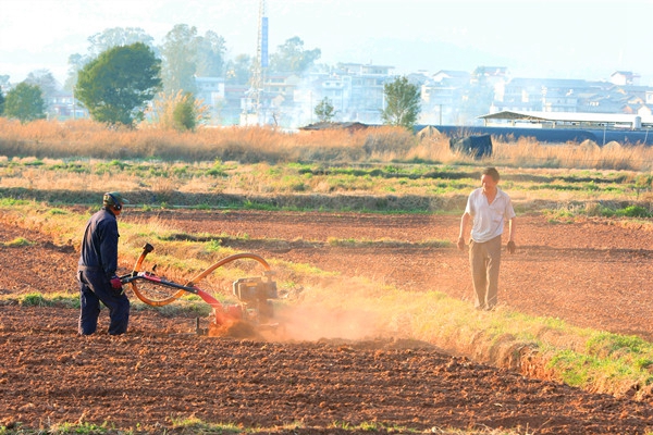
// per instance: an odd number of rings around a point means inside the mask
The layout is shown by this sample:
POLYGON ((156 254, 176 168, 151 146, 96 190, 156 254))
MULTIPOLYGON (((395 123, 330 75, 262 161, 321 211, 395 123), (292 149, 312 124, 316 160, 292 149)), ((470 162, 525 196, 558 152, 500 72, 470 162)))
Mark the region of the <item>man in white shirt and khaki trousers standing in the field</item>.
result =
POLYGON ((501 238, 506 221, 509 228, 507 250, 515 252, 515 210, 508 195, 497 187, 498 181, 496 169, 485 167, 481 175, 482 187, 469 195, 460 219, 460 250, 465 247, 465 231, 469 221, 472 221, 469 265, 477 297, 475 307, 478 310, 493 310, 496 307, 501 238))

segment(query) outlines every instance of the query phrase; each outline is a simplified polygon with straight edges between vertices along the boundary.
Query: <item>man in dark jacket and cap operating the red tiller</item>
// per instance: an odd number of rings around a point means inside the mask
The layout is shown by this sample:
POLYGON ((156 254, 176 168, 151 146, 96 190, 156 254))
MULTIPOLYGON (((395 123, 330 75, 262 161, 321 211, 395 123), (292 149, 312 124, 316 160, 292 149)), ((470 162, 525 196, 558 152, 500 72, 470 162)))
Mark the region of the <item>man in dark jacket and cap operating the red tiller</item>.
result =
POLYGON ((84 231, 82 254, 77 265, 79 282, 79 334, 96 332, 100 301, 109 308, 109 334, 127 331, 130 299, 115 274, 118 269, 118 221, 123 204, 128 202, 118 191, 104 194, 102 209, 95 213, 84 231))

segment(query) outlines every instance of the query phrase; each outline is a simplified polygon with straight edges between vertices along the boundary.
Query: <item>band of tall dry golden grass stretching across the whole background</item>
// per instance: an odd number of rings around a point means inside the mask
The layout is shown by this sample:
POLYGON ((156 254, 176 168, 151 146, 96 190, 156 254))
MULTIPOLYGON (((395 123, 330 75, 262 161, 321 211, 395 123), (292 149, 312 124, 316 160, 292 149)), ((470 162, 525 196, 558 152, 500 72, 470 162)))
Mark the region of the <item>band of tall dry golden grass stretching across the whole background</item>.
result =
MULTIPOLYGON (((108 128, 88 120, 21 124, 0 117, 0 154, 42 158, 160 159, 164 161, 257 162, 475 162, 452 153, 438 133, 412 135, 402 128, 374 127, 358 132, 285 133, 272 127, 200 127, 178 133, 141 125, 108 128)), ((521 138, 494 138, 494 154, 484 162, 517 167, 574 167, 650 171, 653 148, 611 142, 542 145, 521 138)), ((478 163, 478 162, 477 162, 478 163)))

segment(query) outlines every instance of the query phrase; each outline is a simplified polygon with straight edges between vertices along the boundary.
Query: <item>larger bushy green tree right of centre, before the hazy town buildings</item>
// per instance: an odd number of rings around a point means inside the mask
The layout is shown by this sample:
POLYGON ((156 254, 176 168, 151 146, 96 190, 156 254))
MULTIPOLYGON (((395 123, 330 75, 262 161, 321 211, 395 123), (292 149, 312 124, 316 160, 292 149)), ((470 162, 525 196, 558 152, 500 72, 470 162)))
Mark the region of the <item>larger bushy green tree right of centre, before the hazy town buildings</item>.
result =
POLYGON ((420 112, 419 87, 409 83, 406 76, 402 76, 383 85, 383 94, 385 109, 381 112, 381 119, 384 124, 411 129, 420 112))

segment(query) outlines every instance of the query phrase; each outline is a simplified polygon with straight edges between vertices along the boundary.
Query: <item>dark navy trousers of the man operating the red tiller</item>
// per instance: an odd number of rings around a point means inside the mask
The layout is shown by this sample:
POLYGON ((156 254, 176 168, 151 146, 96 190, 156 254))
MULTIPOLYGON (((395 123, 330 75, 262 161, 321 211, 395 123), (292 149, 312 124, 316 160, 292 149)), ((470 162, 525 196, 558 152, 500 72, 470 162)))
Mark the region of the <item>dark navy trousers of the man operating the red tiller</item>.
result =
POLYGON ((111 283, 100 270, 77 271, 79 283, 79 334, 90 335, 96 332, 100 315, 100 301, 109 308, 109 334, 119 335, 127 331, 130 323, 130 299, 120 289, 111 287, 111 283), (121 294, 122 293, 122 294, 121 294))

